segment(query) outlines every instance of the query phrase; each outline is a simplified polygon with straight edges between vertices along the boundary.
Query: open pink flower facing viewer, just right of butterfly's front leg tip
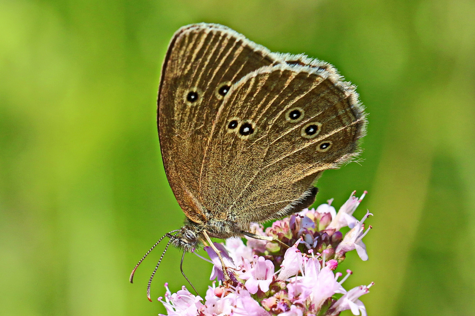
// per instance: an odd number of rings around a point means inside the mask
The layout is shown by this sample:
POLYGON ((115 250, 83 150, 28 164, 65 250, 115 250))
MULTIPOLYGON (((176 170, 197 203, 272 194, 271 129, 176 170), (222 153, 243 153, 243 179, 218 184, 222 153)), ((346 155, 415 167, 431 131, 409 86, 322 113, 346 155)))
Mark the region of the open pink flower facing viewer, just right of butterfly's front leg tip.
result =
POLYGON ((274 277, 274 264, 264 257, 254 255, 254 260, 250 263, 247 259, 244 260, 244 270, 240 278, 246 281, 246 289, 251 294, 257 293, 257 288, 263 292, 269 290, 274 277), (246 271, 246 272, 244 272, 246 271))

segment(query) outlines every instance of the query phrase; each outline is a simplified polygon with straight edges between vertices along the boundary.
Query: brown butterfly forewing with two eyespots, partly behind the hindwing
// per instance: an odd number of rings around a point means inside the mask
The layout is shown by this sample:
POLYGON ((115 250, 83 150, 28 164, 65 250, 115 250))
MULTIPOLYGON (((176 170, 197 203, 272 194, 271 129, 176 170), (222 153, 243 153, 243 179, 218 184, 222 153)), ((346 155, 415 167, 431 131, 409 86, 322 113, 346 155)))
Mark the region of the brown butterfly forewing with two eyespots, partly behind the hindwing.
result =
POLYGON ((195 24, 172 37, 161 71, 158 129, 165 172, 185 215, 206 220, 199 193, 204 148, 223 95, 275 55, 228 27, 195 24), (192 93, 189 98, 188 95, 192 93), (196 93, 196 94, 195 94, 196 93))

